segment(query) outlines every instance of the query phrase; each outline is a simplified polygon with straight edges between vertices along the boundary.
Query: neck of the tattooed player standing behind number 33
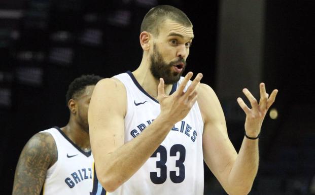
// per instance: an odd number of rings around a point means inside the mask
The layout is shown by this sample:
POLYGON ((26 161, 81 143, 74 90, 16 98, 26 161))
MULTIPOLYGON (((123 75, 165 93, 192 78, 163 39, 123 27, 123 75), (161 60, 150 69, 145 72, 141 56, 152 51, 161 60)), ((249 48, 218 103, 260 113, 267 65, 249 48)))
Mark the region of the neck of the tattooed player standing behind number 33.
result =
POLYGON ((83 151, 90 151, 90 136, 86 130, 76 123, 73 117, 70 117, 68 124, 61 128, 64 134, 71 139, 83 151))

